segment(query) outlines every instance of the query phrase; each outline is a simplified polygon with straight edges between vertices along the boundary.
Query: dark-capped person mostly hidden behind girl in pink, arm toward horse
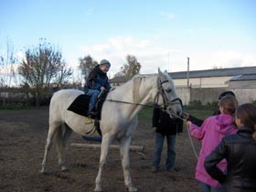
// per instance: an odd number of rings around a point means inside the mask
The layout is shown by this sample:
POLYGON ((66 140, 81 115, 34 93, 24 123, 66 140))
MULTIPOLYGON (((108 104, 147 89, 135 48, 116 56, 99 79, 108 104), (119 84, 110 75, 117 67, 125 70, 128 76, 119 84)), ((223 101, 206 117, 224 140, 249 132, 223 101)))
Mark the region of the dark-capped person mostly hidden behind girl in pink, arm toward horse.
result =
MULTIPOLYGON (((228 96, 228 95, 236 97, 236 95, 233 91, 224 91, 219 94, 219 101, 223 97, 228 96)), ((212 115, 217 115, 217 114, 220 114, 219 110, 213 112, 212 115)), ((183 113, 183 118, 191 123, 197 124, 197 126, 199 126, 199 127, 204 123, 204 120, 198 119, 197 117, 194 117, 193 115, 188 114, 186 112, 183 113)))

